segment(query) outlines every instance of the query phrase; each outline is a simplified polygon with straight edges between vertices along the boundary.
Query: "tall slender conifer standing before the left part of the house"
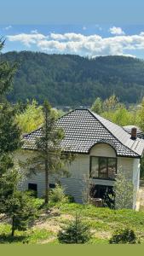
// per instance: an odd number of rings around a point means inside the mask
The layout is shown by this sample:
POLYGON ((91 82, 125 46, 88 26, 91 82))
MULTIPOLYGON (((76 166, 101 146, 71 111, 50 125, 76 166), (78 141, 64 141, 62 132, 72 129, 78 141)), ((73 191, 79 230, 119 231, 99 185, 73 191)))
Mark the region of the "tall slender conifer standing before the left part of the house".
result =
POLYGON ((63 154, 60 142, 64 138, 64 132, 56 128, 56 116, 52 111, 49 102, 43 104, 43 126, 41 136, 37 138, 37 151, 28 161, 30 173, 39 168, 45 173, 45 203, 49 202, 49 175, 67 174, 65 163, 72 160, 71 154, 63 154))

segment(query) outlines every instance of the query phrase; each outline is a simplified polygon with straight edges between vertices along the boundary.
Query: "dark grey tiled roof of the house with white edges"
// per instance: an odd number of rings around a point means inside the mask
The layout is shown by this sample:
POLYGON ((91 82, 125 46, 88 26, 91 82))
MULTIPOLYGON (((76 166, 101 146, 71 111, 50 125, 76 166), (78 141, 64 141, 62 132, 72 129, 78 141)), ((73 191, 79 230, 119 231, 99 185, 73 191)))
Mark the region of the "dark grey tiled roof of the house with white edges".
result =
MULTIPOLYGON (((95 143, 108 143, 118 156, 141 157, 144 140, 130 139, 130 134, 89 109, 76 109, 66 113, 56 121, 56 126, 65 132, 60 143, 65 152, 89 154, 95 143)), ((36 139, 42 134, 42 128, 24 136, 25 149, 37 149, 36 139)))

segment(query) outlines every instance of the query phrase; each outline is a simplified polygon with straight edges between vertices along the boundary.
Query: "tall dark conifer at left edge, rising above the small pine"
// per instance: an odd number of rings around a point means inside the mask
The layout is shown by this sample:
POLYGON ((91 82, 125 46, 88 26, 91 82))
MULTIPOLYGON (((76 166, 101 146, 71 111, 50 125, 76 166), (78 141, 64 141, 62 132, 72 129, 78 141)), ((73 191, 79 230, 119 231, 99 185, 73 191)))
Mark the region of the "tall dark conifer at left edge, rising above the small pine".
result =
MULTIPOLYGON (((4 42, 0 42, 0 50, 4 42)), ((6 61, 0 62, 0 177, 14 165, 12 154, 20 147, 20 129, 15 122, 16 110, 6 100, 11 88, 15 65, 10 67, 6 61)))

